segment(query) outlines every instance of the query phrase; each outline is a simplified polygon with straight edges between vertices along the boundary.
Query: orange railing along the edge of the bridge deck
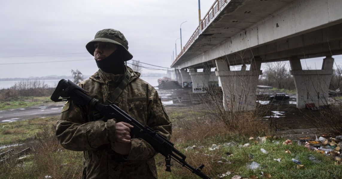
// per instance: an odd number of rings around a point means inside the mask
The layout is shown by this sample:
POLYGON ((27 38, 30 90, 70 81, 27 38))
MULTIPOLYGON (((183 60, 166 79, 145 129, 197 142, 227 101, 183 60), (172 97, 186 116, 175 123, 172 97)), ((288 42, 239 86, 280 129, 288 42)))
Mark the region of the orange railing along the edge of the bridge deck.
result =
POLYGON ((211 19, 216 17, 218 12, 220 11, 221 8, 224 7, 226 4, 227 0, 215 0, 214 4, 211 6, 207 14, 204 16, 204 18, 201 20, 201 25, 198 26, 195 30, 195 32, 191 35, 190 39, 188 42, 184 45, 183 49, 181 52, 178 54, 176 59, 173 61, 172 65, 185 53, 185 51, 195 42, 197 37, 201 34, 201 30, 205 29, 206 27, 209 26, 209 22, 211 19))

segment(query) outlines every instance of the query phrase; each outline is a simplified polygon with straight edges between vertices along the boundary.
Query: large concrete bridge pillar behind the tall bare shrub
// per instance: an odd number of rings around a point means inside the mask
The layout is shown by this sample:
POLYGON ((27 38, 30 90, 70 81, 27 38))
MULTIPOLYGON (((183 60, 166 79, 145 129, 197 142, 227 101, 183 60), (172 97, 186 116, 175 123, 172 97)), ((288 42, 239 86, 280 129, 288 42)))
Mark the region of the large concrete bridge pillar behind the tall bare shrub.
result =
POLYGON ((220 78, 223 91, 223 106, 226 111, 255 109, 257 99, 255 93, 262 71, 261 59, 251 62, 250 70, 243 65, 241 71, 230 71, 225 60, 216 60, 216 76, 220 78))

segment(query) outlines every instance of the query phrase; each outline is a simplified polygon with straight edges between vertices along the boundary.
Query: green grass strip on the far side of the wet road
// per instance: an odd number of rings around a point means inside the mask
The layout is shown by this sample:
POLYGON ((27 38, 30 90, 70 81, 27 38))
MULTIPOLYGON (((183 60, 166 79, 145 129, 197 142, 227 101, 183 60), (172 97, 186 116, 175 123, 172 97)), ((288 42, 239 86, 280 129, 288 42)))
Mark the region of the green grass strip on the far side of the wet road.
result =
POLYGON ((15 108, 24 108, 36 106, 43 103, 52 102, 50 96, 33 97, 33 96, 19 96, 6 99, 0 102, 0 110, 8 110, 15 108))

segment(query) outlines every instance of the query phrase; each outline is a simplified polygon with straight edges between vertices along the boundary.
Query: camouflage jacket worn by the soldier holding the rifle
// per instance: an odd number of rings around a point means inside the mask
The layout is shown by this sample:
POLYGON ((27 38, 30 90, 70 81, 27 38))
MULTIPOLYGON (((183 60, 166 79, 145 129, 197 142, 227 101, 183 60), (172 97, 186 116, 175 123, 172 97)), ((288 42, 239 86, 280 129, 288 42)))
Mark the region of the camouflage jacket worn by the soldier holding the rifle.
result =
MULTIPOLYGON (((115 104, 130 116, 170 139, 171 122, 157 91, 140 74, 127 68, 132 77, 115 104)), ((123 75, 97 71, 78 84, 89 95, 104 102, 111 96, 123 75)), ((83 151, 83 178, 157 178, 155 150, 145 140, 131 136, 131 150, 127 158, 114 152, 116 142, 115 119, 94 121, 95 110, 67 102, 57 121, 56 136, 69 150, 83 151)))

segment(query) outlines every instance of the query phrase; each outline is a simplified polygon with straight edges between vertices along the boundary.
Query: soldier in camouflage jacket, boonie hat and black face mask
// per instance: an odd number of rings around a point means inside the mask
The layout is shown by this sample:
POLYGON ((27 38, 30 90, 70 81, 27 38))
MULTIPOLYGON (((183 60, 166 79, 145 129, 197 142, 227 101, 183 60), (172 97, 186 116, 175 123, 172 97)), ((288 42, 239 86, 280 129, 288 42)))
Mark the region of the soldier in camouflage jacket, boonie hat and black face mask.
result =
MULTIPOLYGON (((78 85, 105 104, 116 104, 142 124, 171 137, 171 122, 156 89, 140 79, 140 73, 124 65, 133 56, 128 41, 114 29, 96 33, 86 45, 99 70, 78 85)), ((57 121, 56 136, 60 144, 83 151, 83 178, 157 178, 156 151, 145 140, 130 134, 133 126, 101 119, 90 106, 67 102, 57 121)))

